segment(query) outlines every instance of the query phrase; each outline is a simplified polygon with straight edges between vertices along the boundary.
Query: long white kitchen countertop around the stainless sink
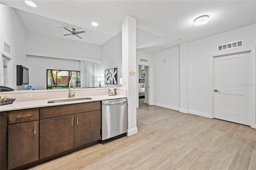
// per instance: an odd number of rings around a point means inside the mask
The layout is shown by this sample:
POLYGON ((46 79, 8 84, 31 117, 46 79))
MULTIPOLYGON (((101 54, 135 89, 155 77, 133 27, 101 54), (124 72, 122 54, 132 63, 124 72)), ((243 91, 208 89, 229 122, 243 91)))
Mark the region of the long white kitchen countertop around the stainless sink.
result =
POLYGON ((30 100, 30 101, 22 101, 22 102, 14 101, 13 104, 0 106, 0 112, 10 111, 10 110, 40 108, 40 107, 47 107, 47 106, 58 106, 58 105, 65 105, 65 104, 75 104, 75 103, 85 103, 85 102, 95 102, 95 101, 101 101, 101 100, 112 100, 112 99, 118 99, 118 98, 126 98, 126 96, 121 96, 121 95, 115 95, 115 96, 97 95, 97 96, 84 96, 84 97, 77 97, 77 98, 87 98, 87 97, 92 98, 92 99, 91 100, 73 101, 73 102, 61 102, 61 103, 47 103, 47 102, 50 100, 62 100, 62 99, 69 99, 69 98, 30 100))

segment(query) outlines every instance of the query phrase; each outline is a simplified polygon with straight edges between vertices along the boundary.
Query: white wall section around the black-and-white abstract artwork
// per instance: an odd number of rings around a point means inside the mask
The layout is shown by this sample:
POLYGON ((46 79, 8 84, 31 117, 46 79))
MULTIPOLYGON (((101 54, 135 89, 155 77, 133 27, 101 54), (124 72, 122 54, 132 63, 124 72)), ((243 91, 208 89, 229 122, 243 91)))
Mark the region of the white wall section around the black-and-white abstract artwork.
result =
POLYGON ((122 77, 122 32, 119 32, 102 45, 101 72, 104 77, 104 70, 117 67, 117 84, 104 84, 103 87, 122 87, 119 81, 122 77))

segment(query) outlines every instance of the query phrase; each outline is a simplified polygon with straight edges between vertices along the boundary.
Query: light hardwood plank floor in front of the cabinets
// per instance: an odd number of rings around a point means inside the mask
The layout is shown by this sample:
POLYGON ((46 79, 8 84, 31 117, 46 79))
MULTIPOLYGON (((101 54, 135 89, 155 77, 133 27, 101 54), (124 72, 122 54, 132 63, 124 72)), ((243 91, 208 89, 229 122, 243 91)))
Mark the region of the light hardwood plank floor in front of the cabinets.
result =
POLYGON ((97 144, 31 170, 256 170, 256 129, 143 105, 138 134, 97 144))

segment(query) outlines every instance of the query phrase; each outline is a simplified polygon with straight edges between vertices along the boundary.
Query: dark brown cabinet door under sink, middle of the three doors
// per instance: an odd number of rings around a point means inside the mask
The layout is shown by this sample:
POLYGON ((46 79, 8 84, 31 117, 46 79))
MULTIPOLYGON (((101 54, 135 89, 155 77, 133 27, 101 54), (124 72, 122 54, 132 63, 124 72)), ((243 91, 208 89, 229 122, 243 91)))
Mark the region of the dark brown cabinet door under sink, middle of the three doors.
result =
POLYGON ((74 115, 40 120, 40 159, 74 148, 74 115))

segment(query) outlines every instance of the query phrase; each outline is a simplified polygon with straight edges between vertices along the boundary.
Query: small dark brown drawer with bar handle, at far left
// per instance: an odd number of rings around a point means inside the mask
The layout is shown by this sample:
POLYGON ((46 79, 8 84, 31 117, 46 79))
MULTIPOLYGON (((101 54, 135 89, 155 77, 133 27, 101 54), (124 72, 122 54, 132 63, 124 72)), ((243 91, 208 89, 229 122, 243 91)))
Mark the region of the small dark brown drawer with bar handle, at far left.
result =
POLYGON ((29 122, 39 119, 39 109, 25 109, 9 112, 9 124, 29 122))

